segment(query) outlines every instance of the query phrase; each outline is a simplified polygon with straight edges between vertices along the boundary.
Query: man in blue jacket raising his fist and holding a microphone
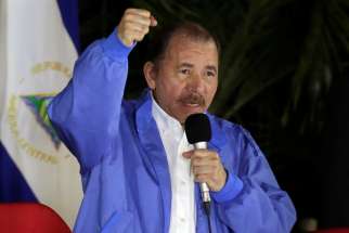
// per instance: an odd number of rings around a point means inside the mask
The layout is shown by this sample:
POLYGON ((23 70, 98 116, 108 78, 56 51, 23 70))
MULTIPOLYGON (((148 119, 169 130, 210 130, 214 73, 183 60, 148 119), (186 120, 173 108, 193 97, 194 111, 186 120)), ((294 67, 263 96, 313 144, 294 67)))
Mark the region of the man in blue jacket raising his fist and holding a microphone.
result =
POLYGON ((122 101, 128 54, 156 24, 148 11, 128 9, 49 107, 81 166, 75 231, 209 232, 197 185, 206 182, 212 232, 289 232, 294 206, 242 127, 207 114, 209 148, 188 143, 183 122, 206 113, 218 85, 218 43, 207 30, 186 23, 163 33, 143 69, 150 90, 122 101))

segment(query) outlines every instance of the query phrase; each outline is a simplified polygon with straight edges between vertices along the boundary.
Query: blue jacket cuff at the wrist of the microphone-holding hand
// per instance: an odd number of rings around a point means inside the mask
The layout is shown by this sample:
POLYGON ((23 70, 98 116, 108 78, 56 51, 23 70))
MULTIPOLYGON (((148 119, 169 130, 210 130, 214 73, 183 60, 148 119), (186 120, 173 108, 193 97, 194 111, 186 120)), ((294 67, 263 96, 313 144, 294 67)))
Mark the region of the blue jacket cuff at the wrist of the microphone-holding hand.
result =
POLYGON ((227 173, 228 178, 225 185, 218 192, 210 192, 211 197, 216 203, 224 203, 234 199, 244 187, 244 183, 238 177, 228 171, 227 173))

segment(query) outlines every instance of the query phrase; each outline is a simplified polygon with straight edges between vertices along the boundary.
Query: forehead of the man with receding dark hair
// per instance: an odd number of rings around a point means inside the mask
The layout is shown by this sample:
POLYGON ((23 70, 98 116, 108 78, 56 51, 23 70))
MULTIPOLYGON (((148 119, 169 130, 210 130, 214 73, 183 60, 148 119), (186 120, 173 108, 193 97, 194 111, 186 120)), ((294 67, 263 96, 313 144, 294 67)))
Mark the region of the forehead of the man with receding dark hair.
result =
POLYGON ((214 40, 193 39, 186 35, 174 35, 166 51, 167 60, 204 60, 210 65, 218 66, 218 51, 214 40))

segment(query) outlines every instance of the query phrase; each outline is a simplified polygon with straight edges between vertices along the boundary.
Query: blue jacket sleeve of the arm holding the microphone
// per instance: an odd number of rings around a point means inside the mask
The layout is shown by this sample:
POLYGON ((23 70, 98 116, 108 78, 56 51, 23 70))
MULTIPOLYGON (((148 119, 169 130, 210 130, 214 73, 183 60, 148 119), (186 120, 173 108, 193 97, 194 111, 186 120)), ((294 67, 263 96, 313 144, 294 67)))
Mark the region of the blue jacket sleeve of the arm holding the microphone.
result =
POLYGON ((219 219, 234 232, 290 232, 296 211, 287 193, 282 191, 256 142, 242 127, 235 138, 238 165, 233 176, 243 182, 240 193, 217 203, 219 219))

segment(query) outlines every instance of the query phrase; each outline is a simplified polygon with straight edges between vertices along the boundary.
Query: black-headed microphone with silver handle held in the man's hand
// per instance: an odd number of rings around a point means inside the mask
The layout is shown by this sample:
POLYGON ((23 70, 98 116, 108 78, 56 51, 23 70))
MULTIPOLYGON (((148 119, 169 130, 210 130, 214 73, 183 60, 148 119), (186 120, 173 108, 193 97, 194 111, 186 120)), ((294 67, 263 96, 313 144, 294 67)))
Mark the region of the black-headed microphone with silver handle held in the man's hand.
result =
MULTIPOLYGON (((192 114, 184 124, 185 134, 189 143, 194 145, 194 148, 207 148, 207 142, 211 139, 211 127, 208 117, 205 114, 192 114)), ((206 182, 199 184, 202 198, 206 213, 209 216, 209 189, 206 182)))

